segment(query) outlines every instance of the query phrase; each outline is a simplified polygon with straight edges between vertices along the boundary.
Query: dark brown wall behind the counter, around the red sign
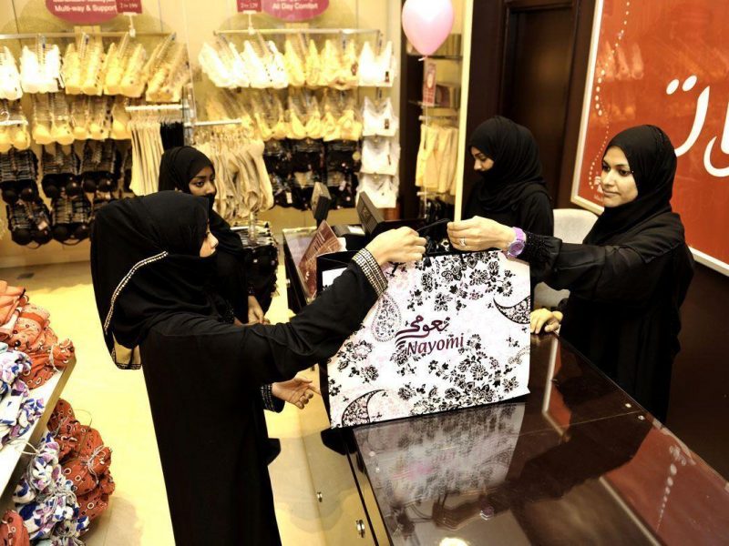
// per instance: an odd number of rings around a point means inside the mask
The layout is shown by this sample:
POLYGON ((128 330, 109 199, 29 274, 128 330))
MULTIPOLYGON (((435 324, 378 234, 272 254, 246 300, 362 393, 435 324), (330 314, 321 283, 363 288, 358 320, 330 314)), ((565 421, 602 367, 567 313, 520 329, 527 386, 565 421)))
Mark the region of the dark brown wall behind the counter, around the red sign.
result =
MULTIPOLYGON (((542 159, 550 166, 556 207, 575 207, 570 195, 594 6, 595 0, 486 0, 474 5, 467 131, 496 114, 510 114, 533 129, 530 124, 535 124, 542 153, 549 150, 542 159), (558 28, 560 33, 554 32, 558 28), (552 56, 560 50, 563 59, 552 56), (511 69, 514 59, 519 66, 511 69), (529 71, 529 66, 536 68, 529 71), (547 141, 558 133, 559 142, 547 141)), ((465 168, 472 171, 468 158, 465 168)), ((673 365, 667 424, 729 478, 727 308, 729 277, 696 264, 682 308, 682 350, 673 365)))

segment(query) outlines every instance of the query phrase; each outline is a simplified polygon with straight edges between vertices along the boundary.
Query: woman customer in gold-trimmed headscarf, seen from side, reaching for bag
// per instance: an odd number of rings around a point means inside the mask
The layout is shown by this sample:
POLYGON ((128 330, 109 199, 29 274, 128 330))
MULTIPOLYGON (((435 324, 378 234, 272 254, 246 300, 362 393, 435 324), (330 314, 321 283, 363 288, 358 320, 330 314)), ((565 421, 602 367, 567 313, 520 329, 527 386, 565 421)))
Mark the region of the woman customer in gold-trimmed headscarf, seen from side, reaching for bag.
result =
POLYGON ((159 192, 99 210, 91 273, 109 352, 144 364, 159 456, 179 546, 281 543, 259 388, 323 362, 386 287, 381 265, 422 257, 425 239, 400 228, 375 238, 287 324, 234 326, 206 291, 218 241, 202 197, 159 192))

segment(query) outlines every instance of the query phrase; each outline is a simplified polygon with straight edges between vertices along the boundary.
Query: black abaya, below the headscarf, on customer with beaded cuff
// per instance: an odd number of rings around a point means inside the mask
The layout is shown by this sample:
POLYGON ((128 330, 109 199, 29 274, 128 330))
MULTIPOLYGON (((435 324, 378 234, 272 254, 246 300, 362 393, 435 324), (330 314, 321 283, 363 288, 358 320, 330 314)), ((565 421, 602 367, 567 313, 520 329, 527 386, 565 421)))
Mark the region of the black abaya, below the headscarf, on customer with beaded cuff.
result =
POLYGON ((353 265, 288 324, 174 314, 149 331, 141 357, 178 546, 281 543, 259 387, 333 356, 376 298, 353 265))

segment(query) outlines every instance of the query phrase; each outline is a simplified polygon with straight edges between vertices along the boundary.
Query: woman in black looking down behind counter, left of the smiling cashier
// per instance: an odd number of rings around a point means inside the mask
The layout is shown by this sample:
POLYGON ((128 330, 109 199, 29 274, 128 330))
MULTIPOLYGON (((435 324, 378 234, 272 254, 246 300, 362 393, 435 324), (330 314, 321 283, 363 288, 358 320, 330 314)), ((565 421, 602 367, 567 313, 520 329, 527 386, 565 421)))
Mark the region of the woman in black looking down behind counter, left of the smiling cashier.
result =
POLYGON ((481 180, 471 190, 463 219, 477 226, 489 218, 530 233, 552 235, 554 217, 541 176, 539 147, 529 129, 494 116, 477 126, 468 141, 481 180))

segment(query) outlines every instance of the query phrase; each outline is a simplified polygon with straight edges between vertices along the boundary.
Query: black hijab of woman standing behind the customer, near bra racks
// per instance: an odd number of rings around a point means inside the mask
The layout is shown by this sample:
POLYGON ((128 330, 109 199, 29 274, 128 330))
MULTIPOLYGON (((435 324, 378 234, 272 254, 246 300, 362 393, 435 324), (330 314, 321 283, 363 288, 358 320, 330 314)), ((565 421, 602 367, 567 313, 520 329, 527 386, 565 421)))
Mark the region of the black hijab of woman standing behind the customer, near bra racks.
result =
MULTIPOLYGON (((165 150, 159 162, 159 191, 179 189, 190 193, 190 180, 200 170, 210 167, 215 172, 212 161, 199 149, 191 146, 173 147, 165 150)), ((215 196, 209 197, 208 214, 210 231, 218 239, 218 250, 229 254, 243 251, 241 238, 231 231, 231 226, 221 215, 212 209, 215 196)))

